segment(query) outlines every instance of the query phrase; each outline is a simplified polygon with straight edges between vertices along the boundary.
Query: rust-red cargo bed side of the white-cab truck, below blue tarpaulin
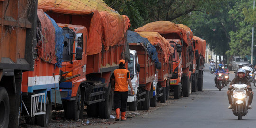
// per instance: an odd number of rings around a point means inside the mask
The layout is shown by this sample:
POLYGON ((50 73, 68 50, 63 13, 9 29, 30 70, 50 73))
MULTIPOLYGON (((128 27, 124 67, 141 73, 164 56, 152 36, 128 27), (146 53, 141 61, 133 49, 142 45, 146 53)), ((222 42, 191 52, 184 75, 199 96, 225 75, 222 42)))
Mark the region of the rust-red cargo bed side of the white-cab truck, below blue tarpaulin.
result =
POLYGON ((129 43, 129 47, 130 49, 137 51, 138 61, 140 64, 139 84, 146 85, 147 83, 152 83, 155 79, 155 62, 151 60, 148 56, 148 52, 145 51, 142 45, 129 43))

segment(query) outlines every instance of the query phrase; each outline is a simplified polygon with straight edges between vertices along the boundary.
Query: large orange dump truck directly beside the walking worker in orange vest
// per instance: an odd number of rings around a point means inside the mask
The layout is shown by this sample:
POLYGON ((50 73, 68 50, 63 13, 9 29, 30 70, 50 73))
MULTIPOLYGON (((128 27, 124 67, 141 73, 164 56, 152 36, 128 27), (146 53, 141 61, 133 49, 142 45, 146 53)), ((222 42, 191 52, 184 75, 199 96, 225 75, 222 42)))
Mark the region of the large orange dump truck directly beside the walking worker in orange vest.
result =
POLYGON ((120 59, 128 60, 129 19, 102 0, 38 0, 63 28, 60 93, 67 119, 87 115, 109 118, 113 105, 110 78, 120 59), (127 56, 126 56, 127 55, 127 56))

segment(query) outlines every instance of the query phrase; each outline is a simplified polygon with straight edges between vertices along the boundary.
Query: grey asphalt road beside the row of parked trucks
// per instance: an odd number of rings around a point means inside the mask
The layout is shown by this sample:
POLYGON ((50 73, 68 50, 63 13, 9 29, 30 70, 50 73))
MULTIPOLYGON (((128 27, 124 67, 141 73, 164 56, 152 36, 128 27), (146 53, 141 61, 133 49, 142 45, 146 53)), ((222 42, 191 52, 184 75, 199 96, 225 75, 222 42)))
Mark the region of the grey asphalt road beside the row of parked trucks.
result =
MULTIPOLYGON (((253 108, 249 113, 238 120, 231 109, 227 108, 227 87, 219 91, 214 86, 214 77, 209 72, 209 64, 206 64, 202 92, 192 93, 189 97, 183 97, 147 115, 111 125, 84 128, 256 128, 256 98, 253 99, 253 108)), ((234 73, 231 73, 230 79, 233 78, 234 73)))

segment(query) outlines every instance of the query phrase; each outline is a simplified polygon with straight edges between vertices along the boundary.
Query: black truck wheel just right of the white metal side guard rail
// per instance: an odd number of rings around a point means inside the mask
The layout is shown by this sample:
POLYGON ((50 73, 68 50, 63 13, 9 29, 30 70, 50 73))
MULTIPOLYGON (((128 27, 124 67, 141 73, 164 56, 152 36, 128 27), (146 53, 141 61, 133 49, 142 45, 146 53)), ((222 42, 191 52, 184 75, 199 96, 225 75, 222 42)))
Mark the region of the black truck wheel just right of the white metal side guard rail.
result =
POLYGON ((46 96, 46 114, 43 115, 37 115, 36 117, 37 125, 40 125, 42 127, 46 127, 51 119, 52 119, 52 105, 49 102, 48 97, 46 96))

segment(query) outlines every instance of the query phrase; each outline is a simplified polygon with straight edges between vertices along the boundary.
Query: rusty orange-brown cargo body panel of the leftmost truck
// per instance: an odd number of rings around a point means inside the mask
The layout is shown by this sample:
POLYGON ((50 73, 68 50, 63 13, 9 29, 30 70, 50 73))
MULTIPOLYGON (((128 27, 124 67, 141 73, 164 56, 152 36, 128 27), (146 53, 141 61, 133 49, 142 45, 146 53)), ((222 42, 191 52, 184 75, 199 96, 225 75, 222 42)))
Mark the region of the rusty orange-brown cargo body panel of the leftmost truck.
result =
POLYGON ((37 16, 34 4, 35 0, 30 5, 27 0, 0 1, 0 69, 33 69, 33 39, 36 38, 33 23, 37 19, 32 19, 37 16))

